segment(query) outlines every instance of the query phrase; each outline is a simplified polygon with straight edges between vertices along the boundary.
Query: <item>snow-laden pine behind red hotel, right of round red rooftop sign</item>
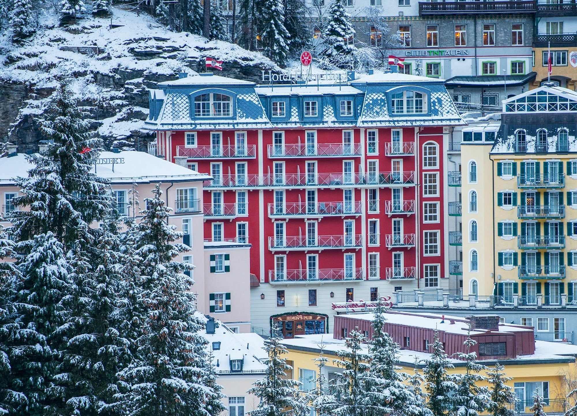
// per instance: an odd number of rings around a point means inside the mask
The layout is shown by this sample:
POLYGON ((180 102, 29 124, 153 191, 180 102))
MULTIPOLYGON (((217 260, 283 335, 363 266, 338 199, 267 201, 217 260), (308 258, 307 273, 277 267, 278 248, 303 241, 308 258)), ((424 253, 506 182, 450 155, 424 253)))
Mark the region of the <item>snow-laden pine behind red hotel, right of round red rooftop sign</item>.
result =
POLYGON ((349 44, 349 39, 354 35, 351 15, 344 9, 341 0, 334 0, 323 36, 323 55, 335 65, 342 66, 342 62, 354 52, 355 47, 349 44))

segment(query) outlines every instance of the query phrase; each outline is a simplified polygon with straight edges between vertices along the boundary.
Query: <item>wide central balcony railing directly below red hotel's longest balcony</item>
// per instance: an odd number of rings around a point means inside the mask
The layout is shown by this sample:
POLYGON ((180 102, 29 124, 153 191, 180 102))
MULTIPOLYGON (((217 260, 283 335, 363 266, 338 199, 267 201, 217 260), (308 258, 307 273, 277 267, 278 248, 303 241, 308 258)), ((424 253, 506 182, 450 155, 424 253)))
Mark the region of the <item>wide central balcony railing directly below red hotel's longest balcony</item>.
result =
POLYGON ((286 217, 312 217, 312 216, 347 216, 361 215, 362 205, 360 201, 354 203, 342 202, 321 202, 311 203, 287 203, 278 206, 274 203, 268 204, 269 218, 286 217))

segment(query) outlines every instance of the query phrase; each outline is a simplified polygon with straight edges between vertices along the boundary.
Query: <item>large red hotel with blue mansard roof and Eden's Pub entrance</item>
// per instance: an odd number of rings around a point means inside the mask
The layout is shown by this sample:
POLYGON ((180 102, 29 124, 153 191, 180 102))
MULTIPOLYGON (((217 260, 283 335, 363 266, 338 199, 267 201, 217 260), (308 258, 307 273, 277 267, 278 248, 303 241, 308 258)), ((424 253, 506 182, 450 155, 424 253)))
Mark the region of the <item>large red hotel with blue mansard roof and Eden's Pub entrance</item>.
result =
MULTIPOLYGON (((212 175, 204 234, 252 245, 254 327, 273 317, 287 337, 325 332, 332 302, 449 286, 443 153, 463 121, 443 81, 256 85, 205 73, 159 88, 151 151, 212 175)), ((177 210, 196 196, 179 198, 177 210)))

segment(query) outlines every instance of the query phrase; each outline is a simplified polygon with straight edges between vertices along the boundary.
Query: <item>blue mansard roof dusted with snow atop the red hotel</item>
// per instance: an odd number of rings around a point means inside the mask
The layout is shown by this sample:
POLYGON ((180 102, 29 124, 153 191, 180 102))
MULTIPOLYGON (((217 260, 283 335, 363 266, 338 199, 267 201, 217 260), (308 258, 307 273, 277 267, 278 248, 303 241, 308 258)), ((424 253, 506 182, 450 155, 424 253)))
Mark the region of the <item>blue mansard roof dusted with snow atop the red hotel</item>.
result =
POLYGON ((443 80, 400 73, 375 73, 350 83, 291 85, 198 74, 159 83, 159 89, 150 91, 149 106, 144 125, 149 130, 464 125, 443 80), (392 110, 394 98, 415 92, 424 97, 418 113, 412 103, 406 103, 410 111, 392 110), (228 100, 224 104, 223 97, 228 100))

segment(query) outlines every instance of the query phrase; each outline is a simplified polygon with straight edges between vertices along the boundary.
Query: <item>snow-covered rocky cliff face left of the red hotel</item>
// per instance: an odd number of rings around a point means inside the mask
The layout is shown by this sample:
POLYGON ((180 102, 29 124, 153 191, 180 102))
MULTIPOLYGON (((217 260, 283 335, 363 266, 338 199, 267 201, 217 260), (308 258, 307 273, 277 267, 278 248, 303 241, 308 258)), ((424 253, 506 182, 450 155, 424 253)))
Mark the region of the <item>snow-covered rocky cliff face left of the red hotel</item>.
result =
POLYGON ((219 75, 258 81, 261 70, 278 67, 261 54, 189 33, 174 33, 151 17, 114 10, 110 19, 86 18, 61 28, 54 16, 20 46, 0 38, 0 142, 19 152, 37 151, 42 117, 57 80, 64 80, 91 118, 105 148, 145 150, 152 140, 142 129, 148 89, 179 72, 204 71, 204 58, 224 61, 219 75))

